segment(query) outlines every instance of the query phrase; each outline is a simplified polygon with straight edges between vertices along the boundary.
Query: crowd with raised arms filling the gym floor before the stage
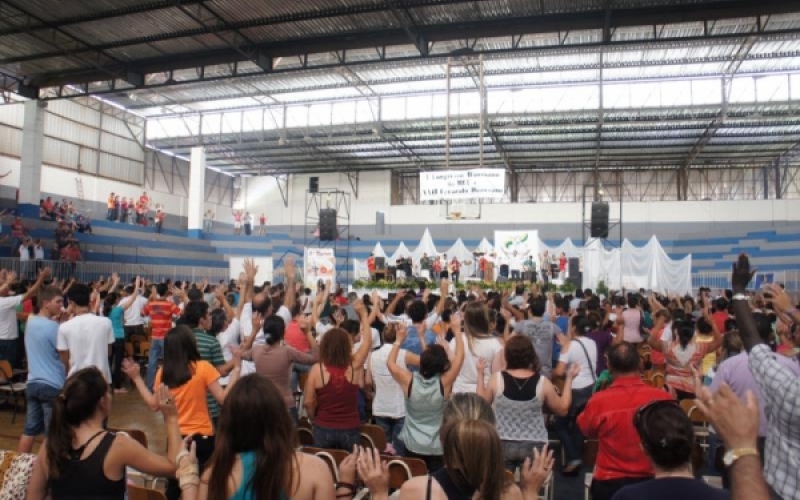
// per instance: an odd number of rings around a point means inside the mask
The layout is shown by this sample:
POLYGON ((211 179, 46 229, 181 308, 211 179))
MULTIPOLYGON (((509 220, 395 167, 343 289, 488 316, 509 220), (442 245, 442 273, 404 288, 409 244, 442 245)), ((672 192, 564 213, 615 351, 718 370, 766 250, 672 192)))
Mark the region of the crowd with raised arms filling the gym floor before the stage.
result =
POLYGON ((732 290, 695 297, 560 296, 524 284, 451 295, 445 279, 440 295, 384 301, 331 294, 330 284, 314 294, 295 283, 291 259, 285 266, 285 283, 260 286, 249 260, 219 286, 0 273, 0 360, 24 358, 29 370, 20 450, 47 436, 28 498, 121 499, 132 467, 167 477, 170 500, 330 500, 358 484, 384 499, 391 455, 429 472, 402 485, 402 500, 530 500, 554 474, 580 472, 593 472, 595 500, 798 498, 800 312, 780 286, 747 292, 745 256, 732 290), (19 323, 18 306, 28 311, 19 323), (123 346, 145 323, 143 369, 123 346), (666 386, 643 371, 663 373, 666 386), (166 458, 105 430, 126 380, 163 413, 166 458), (726 489, 697 478, 683 400, 713 424, 709 455, 723 455, 726 489), (338 482, 297 450, 303 417, 315 446, 350 453, 338 482), (358 446, 368 418, 385 449, 358 446), (585 439, 597 441, 592 471, 585 439))

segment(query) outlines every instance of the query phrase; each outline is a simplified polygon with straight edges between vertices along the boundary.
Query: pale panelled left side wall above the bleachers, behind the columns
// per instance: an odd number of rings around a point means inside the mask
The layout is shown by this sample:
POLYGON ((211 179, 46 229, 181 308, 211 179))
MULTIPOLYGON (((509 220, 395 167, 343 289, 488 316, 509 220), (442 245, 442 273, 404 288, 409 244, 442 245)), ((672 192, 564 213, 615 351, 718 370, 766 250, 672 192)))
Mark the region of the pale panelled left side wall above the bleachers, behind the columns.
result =
MULTIPOLYGON (((178 160, 173 172, 171 157, 143 150, 139 142, 144 137, 143 121, 131 118, 126 123, 69 100, 48 102, 45 113, 43 197, 77 198, 76 178, 80 177, 84 209, 91 210, 93 217, 104 217, 111 192, 138 197, 147 191, 154 203, 162 203, 174 216, 167 220, 168 226, 186 227, 189 164, 178 160), (163 173, 154 168, 153 155, 159 156, 163 173)), ((11 172, 0 180, 3 206, 13 206, 19 186, 23 121, 21 103, 0 106, 0 175, 11 172)), ((206 173, 206 196, 212 201, 206 209, 227 214, 232 192, 224 190, 224 183, 214 182, 216 175, 210 170, 206 173)))

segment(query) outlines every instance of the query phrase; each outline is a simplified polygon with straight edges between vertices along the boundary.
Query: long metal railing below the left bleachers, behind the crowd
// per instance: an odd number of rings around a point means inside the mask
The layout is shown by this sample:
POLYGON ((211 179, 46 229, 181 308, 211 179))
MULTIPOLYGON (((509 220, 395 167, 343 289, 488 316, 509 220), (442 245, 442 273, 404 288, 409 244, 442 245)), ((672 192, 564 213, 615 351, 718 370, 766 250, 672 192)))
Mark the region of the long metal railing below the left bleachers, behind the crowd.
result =
POLYGON ((34 279, 36 271, 49 267, 55 278, 76 280, 87 283, 108 277, 113 273, 120 276, 122 282, 129 282, 136 276, 149 281, 159 282, 165 279, 173 281, 199 282, 208 279, 211 283, 230 279, 230 271, 225 268, 194 266, 162 266, 155 264, 127 264, 118 262, 64 262, 53 260, 20 261, 17 258, 0 258, 0 268, 14 271, 21 279, 34 279))

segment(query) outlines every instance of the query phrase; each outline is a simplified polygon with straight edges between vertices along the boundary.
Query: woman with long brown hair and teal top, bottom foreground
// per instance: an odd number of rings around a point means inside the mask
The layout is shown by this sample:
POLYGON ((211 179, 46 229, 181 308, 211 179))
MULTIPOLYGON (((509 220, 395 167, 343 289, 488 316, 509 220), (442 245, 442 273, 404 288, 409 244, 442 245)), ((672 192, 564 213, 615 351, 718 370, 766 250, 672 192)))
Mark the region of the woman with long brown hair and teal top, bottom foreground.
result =
POLYGON ((222 407, 219 424, 216 450, 203 480, 199 488, 184 490, 182 500, 337 498, 325 462, 295 451, 283 395, 266 377, 242 377, 222 407))

